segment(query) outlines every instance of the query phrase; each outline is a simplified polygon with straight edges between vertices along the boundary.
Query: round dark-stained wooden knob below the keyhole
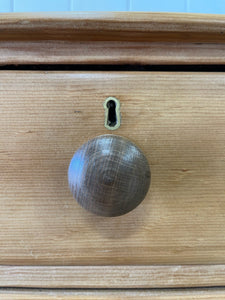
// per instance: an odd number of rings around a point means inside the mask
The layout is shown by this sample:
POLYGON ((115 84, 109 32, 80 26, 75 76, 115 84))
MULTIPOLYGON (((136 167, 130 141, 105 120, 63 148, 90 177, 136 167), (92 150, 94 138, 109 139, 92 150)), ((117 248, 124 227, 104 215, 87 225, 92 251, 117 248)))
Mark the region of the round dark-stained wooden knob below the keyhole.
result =
POLYGON ((68 170, 69 187, 77 202, 108 217, 126 214, 140 204, 150 177, 141 150, 116 135, 101 135, 82 145, 68 170))

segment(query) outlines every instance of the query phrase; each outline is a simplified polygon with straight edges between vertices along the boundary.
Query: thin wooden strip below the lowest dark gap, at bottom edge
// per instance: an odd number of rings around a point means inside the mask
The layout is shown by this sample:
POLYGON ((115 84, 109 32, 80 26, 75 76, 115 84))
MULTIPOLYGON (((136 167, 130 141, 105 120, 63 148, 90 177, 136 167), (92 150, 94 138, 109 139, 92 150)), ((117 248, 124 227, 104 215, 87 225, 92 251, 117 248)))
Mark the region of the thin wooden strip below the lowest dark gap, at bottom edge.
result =
POLYGON ((83 290, 83 291, 55 291, 55 290, 2 290, 1 300, 222 300, 225 299, 224 289, 189 289, 189 290, 83 290))

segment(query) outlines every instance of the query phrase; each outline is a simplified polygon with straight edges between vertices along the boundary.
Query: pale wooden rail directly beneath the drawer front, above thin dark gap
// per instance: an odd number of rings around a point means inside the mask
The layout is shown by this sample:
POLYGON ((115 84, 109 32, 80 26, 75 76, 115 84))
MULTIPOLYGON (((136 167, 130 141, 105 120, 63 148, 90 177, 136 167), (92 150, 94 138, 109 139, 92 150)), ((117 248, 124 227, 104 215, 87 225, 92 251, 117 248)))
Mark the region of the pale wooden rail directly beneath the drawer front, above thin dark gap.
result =
POLYGON ((0 266, 0 287, 178 288, 225 285, 225 265, 0 266))

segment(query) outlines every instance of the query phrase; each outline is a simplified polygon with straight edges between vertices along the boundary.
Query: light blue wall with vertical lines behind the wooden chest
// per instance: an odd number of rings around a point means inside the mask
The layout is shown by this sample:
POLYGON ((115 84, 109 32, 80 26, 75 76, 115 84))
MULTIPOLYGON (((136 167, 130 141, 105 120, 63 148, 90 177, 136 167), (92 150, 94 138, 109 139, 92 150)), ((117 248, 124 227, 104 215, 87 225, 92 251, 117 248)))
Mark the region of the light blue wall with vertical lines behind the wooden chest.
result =
POLYGON ((152 11, 225 14, 225 0, 0 0, 0 12, 152 11))

